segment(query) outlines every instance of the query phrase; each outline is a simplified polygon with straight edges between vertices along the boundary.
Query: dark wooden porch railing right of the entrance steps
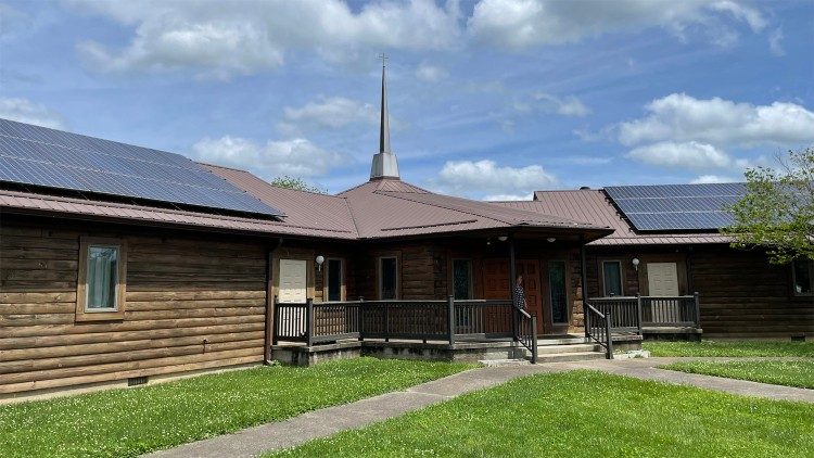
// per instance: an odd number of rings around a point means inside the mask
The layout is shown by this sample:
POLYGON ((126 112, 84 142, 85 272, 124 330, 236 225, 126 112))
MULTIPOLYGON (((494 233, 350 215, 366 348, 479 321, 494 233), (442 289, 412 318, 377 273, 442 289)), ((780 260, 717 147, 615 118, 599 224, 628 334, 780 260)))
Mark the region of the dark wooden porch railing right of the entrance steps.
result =
POLYGON ((636 332, 643 328, 700 328, 699 295, 686 296, 611 296, 592 297, 590 304, 611 315, 615 333, 636 332))

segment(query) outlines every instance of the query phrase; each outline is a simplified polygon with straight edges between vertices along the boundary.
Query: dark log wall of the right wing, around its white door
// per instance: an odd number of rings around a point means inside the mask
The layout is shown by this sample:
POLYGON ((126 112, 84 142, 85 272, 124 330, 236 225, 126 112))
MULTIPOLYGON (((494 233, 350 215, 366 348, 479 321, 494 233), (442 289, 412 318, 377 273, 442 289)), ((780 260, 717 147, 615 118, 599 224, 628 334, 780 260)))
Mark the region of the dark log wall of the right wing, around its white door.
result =
POLYGON ((602 259, 622 260, 624 294, 646 293, 646 262, 677 262, 682 294, 700 294, 701 328, 710 338, 814 335, 814 298, 791 293, 789 266, 768 263, 760 251, 727 245, 588 246, 588 295, 601 295, 602 259), (641 259, 639 270, 631 259, 641 259), (684 277, 682 277, 684 276, 684 277))

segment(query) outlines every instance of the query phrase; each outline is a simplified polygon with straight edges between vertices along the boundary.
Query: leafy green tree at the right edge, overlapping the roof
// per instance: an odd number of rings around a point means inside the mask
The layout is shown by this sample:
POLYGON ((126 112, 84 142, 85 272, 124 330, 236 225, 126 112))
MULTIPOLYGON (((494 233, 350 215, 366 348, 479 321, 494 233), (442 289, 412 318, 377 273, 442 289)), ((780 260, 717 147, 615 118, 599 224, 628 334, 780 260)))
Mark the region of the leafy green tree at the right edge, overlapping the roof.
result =
POLYGON ((730 207, 735 221, 723 232, 733 246, 765 247, 775 264, 814 259, 814 148, 778 162, 746 171, 747 194, 730 207))

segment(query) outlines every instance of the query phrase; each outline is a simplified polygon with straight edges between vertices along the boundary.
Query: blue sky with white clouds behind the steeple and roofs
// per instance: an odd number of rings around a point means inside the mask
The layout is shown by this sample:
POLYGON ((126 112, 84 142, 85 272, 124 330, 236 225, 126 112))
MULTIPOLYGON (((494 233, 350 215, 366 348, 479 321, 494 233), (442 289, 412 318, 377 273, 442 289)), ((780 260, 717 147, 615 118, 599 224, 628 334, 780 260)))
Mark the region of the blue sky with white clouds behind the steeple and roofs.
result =
POLYGON ((339 192, 742 179, 814 144, 814 1, 0 0, 0 117, 339 192))

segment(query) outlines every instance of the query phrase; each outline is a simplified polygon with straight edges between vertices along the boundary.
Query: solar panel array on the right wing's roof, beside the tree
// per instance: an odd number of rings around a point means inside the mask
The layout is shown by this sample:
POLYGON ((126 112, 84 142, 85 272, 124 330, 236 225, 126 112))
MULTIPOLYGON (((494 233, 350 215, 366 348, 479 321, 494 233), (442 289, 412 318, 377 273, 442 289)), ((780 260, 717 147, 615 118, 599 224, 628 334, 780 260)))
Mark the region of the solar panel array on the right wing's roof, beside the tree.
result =
POLYGON ((729 226, 726 207, 746 193, 743 183, 618 186, 605 188, 638 231, 713 230, 729 226))

